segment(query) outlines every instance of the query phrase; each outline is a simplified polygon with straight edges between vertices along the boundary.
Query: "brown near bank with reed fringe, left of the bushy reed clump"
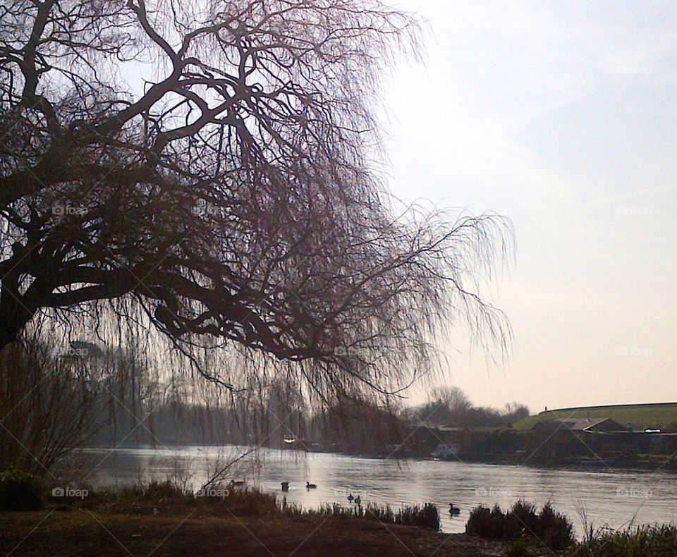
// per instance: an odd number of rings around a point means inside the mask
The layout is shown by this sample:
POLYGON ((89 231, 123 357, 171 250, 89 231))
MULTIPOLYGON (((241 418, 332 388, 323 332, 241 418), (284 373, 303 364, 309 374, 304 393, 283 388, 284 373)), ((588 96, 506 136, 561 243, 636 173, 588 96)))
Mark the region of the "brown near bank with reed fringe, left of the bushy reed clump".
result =
POLYGON ((227 484, 197 496, 170 482, 116 491, 68 486, 58 496, 51 489, 23 475, 0 485, 0 502, 15 509, 0 511, 1 555, 503 555, 500 542, 440 534, 430 505, 302 510, 227 484), (23 503, 39 508, 22 510, 23 503))

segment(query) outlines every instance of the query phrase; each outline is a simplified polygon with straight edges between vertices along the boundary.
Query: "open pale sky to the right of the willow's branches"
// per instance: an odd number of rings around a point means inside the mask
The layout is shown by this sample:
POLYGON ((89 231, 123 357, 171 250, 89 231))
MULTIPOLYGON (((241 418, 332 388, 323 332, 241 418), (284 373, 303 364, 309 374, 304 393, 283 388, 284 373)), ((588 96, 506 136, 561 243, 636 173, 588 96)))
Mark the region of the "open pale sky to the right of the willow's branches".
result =
POLYGON ((677 401, 677 4, 407 0, 423 66, 386 90, 390 185, 510 217, 516 263, 484 294, 510 363, 462 339, 449 384, 532 411, 677 401))

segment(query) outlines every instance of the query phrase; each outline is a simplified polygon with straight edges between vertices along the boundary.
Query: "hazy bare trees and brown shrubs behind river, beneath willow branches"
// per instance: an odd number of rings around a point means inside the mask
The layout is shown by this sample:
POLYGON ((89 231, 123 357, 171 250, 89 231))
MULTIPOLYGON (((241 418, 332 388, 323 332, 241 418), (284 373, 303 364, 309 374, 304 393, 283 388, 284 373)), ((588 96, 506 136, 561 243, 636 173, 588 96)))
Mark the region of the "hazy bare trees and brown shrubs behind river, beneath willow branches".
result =
POLYGON ((0 469, 38 474, 83 446, 242 445, 407 455, 411 449, 402 448, 422 423, 500 428, 529 414, 516 403, 504 410, 477 407, 456 387, 435 389, 415 408, 347 396, 312 407, 307 393, 279 379, 233 393, 199 379, 181 382, 132 343, 124 350, 78 341, 57 348, 36 336, 2 352, 0 371, 0 412, 6 416, 0 469))

